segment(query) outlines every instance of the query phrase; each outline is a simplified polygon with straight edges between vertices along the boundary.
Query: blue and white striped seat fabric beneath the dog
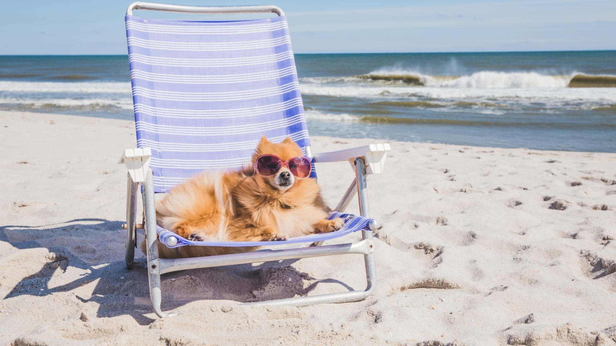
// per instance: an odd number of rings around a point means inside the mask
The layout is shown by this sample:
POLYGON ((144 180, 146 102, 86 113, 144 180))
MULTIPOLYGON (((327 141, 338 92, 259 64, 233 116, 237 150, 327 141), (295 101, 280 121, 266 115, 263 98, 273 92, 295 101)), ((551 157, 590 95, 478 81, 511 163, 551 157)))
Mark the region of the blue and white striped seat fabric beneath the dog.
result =
POLYGON ((325 241, 334 238, 345 236, 349 233, 353 233, 359 230, 370 230, 368 225, 373 219, 369 219, 363 216, 355 216, 351 214, 342 214, 340 212, 332 212, 328 219, 336 219, 336 217, 342 217, 346 220, 344 226, 335 232, 330 233, 316 233, 312 235, 298 236, 296 238, 289 238, 283 241, 192 241, 173 233, 172 231, 165 230, 160 226, 156 226, 156 234, 158 240, 165 244, 167 247, 180 247, 186 245, 198 245, 198 246, 273 246, 273 245, 285 245, 294 243, 312 243, 314 241, 325 241), (167 239, 173 236, 177 239, 177 243, 173 246, 167 244, 167 239))

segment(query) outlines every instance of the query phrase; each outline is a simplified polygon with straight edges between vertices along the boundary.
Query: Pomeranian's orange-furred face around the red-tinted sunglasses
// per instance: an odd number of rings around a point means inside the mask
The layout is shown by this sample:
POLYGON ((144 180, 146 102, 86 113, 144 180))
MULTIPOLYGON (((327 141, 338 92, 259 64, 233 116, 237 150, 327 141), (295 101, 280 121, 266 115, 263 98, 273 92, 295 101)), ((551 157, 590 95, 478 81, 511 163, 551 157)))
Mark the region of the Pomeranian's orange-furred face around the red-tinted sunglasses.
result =
MULTIPOLYGON (((299 148, 299 145, 291 140, 291 137, 286 137, 282 143, 272 143, 263 136, 254 152, 253 165, 256 159, 261 155, 276 155, 283 161, 288 161, 290 158, 302 156, 302 150, 299 148)), ((271 177, 262 177, 261 175, 259 175, 259 177, 269 183, 272 188, 281 191, 290 189, 297 181, 286 166, 283 166, 280 171, 271 177)))

